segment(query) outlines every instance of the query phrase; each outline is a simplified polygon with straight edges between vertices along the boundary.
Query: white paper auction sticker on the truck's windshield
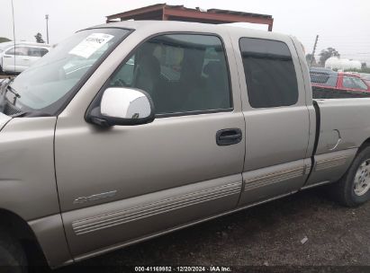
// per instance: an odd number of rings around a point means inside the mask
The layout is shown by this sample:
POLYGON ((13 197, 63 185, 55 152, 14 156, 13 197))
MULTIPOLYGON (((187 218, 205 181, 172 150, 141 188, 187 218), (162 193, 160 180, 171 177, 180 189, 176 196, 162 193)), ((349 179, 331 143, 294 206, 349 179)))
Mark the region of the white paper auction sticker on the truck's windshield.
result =
POLYGON ((90 57, 96 50, 102 48, 109 40, 113 39, 113 35, 104 33, 93 33, 81 41, 75 48, 72 48, 68 53, 79 57, 90 57))

